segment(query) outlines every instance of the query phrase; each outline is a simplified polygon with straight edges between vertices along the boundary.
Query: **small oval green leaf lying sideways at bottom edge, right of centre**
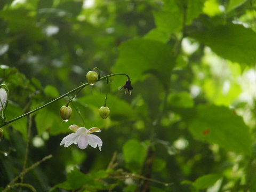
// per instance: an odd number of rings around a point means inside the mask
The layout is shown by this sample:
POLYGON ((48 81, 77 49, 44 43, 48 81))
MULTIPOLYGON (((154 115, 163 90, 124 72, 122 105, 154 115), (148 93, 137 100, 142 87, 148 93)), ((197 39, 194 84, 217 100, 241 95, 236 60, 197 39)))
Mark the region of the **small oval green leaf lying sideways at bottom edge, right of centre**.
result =
POLYGON ((213 186, 214 183, 217 182, 221 178, 222 178, 221 174, 207 174, 207 175, 204 175, 204 176, 198 178, 194 182, 194 186, 197 189, 205 189, 205 188, 213 186))

